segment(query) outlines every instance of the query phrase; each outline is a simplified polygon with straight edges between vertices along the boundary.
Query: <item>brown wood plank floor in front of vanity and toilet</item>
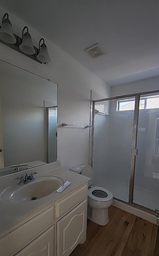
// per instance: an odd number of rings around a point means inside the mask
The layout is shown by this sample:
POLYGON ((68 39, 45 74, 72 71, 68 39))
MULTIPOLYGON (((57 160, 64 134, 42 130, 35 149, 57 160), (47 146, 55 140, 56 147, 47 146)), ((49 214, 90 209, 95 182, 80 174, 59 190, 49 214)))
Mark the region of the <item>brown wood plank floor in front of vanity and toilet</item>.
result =
POLYGON ((71 256, 159 256, 159 229, 119 208, 109 208, 110 221, 87 222, 87 239, 71 256))

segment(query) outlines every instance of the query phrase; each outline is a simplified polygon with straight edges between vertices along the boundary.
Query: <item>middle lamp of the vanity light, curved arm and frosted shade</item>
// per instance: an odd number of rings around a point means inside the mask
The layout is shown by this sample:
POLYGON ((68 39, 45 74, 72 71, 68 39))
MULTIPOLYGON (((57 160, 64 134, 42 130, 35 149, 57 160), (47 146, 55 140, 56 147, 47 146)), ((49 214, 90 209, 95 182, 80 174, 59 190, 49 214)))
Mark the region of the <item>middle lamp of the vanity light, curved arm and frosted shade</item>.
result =
POLYGON ((33 42, 32 42, 32 37, 29 34, 29 29, 27 26, 25 26, 23 28, 22 31, 22 43, 19 46, 19 48, 21 49, 21 51, 23 51, 26 54, 35 54, 35 49, 33 47, 33 42), (25 29, 27 30, 24 34, 25 29))

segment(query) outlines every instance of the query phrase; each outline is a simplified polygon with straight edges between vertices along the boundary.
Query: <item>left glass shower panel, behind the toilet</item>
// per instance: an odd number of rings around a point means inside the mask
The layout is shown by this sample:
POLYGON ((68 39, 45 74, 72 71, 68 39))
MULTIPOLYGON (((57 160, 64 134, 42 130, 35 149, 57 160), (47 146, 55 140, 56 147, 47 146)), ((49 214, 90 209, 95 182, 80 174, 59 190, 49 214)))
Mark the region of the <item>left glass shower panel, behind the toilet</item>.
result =
POLYGON ((95 102, 93 186, 128 202, 135 97, 95 102), (105 115, 105 113, 110 115, 105 115))

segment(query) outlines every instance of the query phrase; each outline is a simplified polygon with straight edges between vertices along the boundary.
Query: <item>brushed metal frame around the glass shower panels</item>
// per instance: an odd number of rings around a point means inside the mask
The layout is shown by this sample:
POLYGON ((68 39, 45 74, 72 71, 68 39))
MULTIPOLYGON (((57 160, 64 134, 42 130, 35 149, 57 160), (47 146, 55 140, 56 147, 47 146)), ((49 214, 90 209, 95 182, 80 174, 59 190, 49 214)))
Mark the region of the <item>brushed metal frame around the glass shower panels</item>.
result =
POLYGON ((144 210, 145 212, 155 214, 155 210, 149 209, 147 207, 144 207, 142 205, 138 205, 133 202, 133 194, 134 194, 134 177, 135 177, 135 161, 136 161, 136 143, 137 143, 137 129, 135 129, 135 126, 138 126, 138 114, 139 114, 139 104, 140 104, 140 96, 144 94, 150 94, 150 93, 158 93, 159 90, 154 91, 146 91, 146 92, 139 92, 139 93, 133 93, 133 94, 126 94, 116 97, 110 97, 105 99, 99 99, 93 101, 93 118, 92 118, 92 159, 91 159, 91 166, 93 167, 93 147, 94 147, 94 114, 95 114, 95 102, 101 102, 101 101, 107 101, 107 100, 117 100, 122 99, 126 97, 135 97, 135 108, 134 108, 134 119, 133 119, 133 131, 132 131, 132 148, 131 148, 131 165, 130 165, 130 182, 129 182, 129 200, 128 202, 125 202, 121 199, 115 198, 115 200, 122 202, 126 205, 130 205, 134 208, 138 208, 141 210, 144 210))

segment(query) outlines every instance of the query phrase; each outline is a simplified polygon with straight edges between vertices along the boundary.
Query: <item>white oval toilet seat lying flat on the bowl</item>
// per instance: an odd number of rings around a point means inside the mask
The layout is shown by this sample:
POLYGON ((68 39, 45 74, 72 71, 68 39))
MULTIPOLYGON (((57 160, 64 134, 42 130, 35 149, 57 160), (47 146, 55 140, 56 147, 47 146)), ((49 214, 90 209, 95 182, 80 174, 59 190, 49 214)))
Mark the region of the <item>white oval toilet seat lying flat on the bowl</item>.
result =
POLYGON ((88 189, 88 197, 100 202, 107 202, 113 199, 112 193, 106 188, 101 187, 92 187, 88 189))

